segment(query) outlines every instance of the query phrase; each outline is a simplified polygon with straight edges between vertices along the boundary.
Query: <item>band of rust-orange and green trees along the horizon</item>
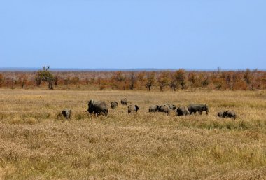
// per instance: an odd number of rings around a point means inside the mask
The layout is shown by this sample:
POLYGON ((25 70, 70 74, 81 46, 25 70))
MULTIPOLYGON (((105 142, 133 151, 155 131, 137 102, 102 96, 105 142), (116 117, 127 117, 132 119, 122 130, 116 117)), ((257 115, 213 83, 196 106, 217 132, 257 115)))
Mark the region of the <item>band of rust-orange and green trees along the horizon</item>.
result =
POLYGON ((83 90, 263 90, 266 71, 50 71, 2 72, 2 88, 83 90))

